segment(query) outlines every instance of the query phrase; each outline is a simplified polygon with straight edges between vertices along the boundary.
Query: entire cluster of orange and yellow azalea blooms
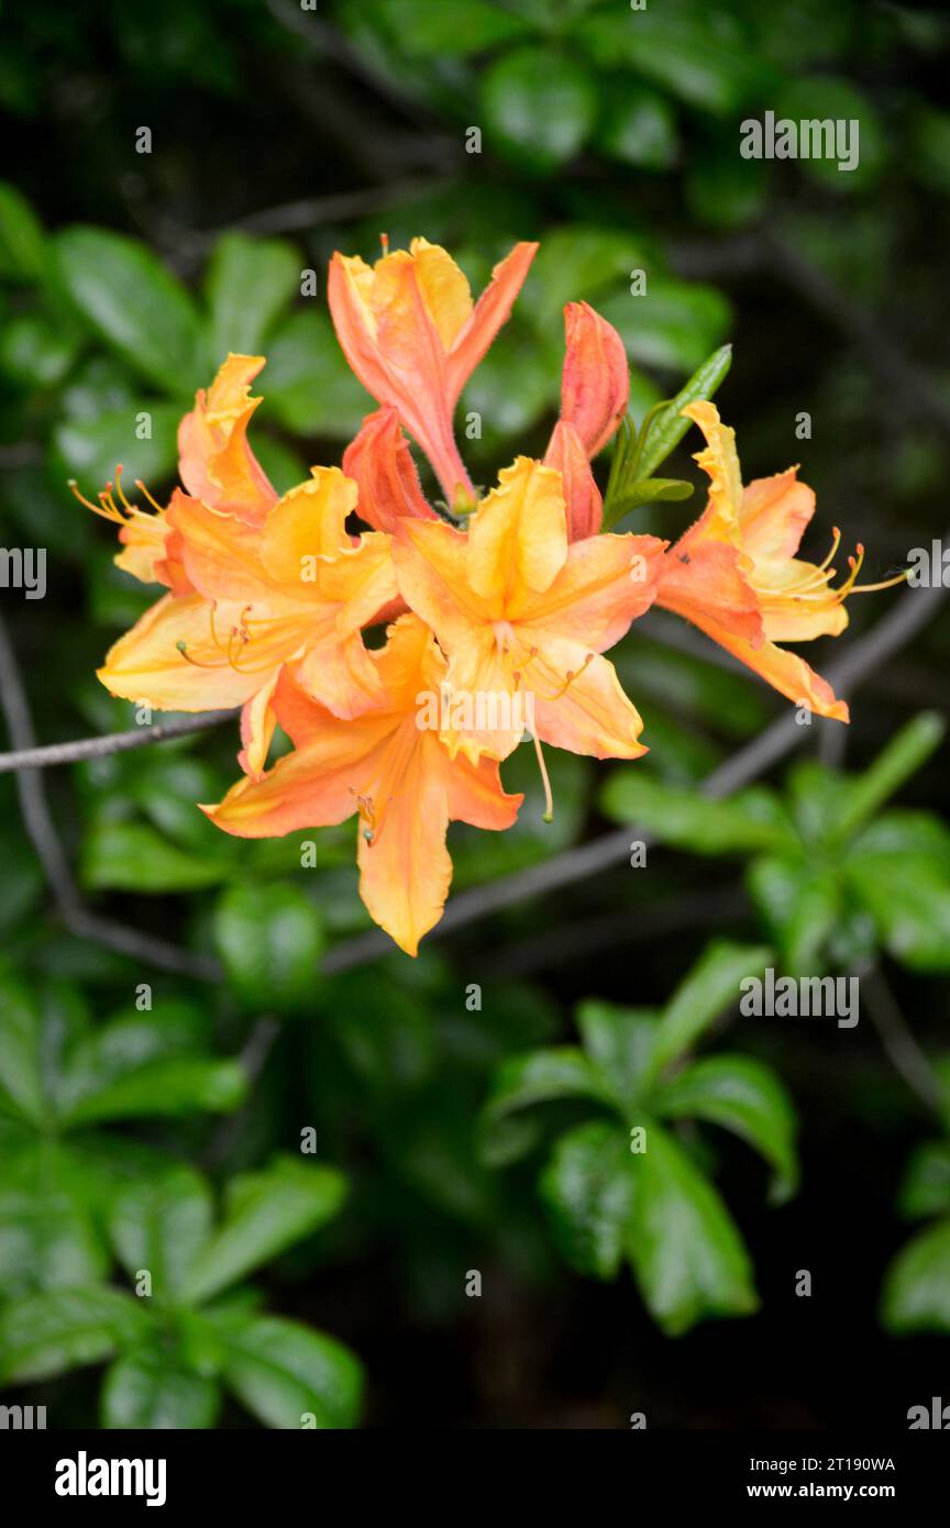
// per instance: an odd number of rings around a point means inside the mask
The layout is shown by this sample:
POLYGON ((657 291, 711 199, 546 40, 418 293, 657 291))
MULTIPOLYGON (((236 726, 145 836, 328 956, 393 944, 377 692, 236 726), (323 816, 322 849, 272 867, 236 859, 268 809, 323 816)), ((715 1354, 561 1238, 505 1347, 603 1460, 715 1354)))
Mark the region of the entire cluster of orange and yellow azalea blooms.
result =
POLYGON ((797 704, 848 720, 777 643, 845 628, 860 556, 837 588, 831 556, 796 556, 814 494, 794 468, 744 487, 733 431, 712 403, 684 410, 706 439, 700 520, 674 545, 600 532, 590 463, 626 414, 629 374, 620 336, 586 303, 565 309, 561 417, 544 460, 518 457, 490 492, 475 489, 452 416, 535 251, 518 244, 478 303, 425 238, 374 266, 334 255, 336 333, 380 405, 342 469, 315 466, 278 497, 247 439, 264 358, 231 354, 182 420, 183 487, 168 506, 130 503, 121 472, 90 504, 119 526, 119 567, 166 590, 111 648, 102 683, 157 709, 240 706, 243 775, 202 810, 243 837, 357 817, 360 895, 411 955, 441 917, 449 822, 515 822, 522 798, 506 793, 499 764, 525 717, 548 808, 542 744, 594 758, 646 752, 603 654, 651 605, 693 622, 797 704), (440 507, 423 495, 406 432, 440 483, 440 507), (472 697, 492 704, 464 704, 472 697), (293 749, 269 769, 278 724, 293 749))

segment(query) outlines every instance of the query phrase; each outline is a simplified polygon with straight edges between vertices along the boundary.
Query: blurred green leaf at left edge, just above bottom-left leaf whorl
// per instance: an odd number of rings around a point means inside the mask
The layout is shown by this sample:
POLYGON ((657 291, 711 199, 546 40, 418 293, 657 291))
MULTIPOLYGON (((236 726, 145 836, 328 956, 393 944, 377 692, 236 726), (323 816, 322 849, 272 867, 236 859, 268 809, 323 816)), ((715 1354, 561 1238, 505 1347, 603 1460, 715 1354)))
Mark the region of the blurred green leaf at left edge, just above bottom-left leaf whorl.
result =
MULTIPOLYGON (((5 1166, 6 1172, 6 1166, 5 1166)), ((41 1187, 0 1190, 0 1288, 5 1299, 35 1290, 98 1284, 108 1271, 89 1215, 44 1164, 41 1187)))

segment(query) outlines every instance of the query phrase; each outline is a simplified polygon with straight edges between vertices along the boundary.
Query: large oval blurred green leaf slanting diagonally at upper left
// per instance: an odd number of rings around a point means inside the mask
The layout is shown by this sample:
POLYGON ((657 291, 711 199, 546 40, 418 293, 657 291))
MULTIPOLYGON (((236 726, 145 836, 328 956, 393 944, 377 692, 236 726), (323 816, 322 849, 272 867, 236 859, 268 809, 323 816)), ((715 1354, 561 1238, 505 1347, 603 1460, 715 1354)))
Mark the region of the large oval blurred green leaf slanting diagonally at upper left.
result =
POLYGON ((185 287, 147 244, 102 228, 57 234, 63 283, 76 307, 150 382, 188 397, 203 380, 199 316, 185 287))

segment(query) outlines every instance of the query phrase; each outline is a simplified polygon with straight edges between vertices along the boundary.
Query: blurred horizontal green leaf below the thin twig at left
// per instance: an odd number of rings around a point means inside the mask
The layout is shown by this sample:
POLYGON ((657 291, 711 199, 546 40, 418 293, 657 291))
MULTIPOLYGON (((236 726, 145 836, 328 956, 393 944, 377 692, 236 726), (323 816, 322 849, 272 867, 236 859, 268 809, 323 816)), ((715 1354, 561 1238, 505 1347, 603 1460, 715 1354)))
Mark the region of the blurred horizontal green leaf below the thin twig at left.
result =
POLYGON ((82 885, 92 891, 197 891, 228 874, 228 863, 186 854, 147 822, 96 822, 82 845, 82 885))

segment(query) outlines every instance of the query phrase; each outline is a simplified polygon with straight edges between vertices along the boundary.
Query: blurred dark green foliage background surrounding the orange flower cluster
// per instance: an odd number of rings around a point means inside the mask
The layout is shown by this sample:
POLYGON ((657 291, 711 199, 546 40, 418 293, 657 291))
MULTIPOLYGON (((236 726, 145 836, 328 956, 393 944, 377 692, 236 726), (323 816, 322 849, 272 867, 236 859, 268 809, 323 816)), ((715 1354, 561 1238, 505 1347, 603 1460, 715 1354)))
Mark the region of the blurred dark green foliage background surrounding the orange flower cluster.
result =
MULTIPOLYGON (((380 229, 448 244, 475 290, 542 241, 463 399, 477 481, 544 449, 585 298, 623 335, 634 423, 733 342, 718 403, 747 477, 800 460, 809 552, 837 523, 877 578, 942 533, 941 9, 5 0, 0 34, 0 532, 49 559, 46 602, 3 608, 41 741, 134 723, 93 669, 151 601, 66 478, 90 494, 122 461, 165 495, 228 350, 267 354, 275 484, 339 461, 371 403, 325 264, 380 229), (858 168, 741 159, 765 110, 858 119, 858 168)), ((695 481, 689 449, 669 469, 695 481)), ((696 504, 625 526, 675 535, 696 504)), ((857 602, 842 645, 895 597, 857 602)), ((948 646, 944 614, 846 735, 816 721, 787 776, 710 802, 698 782, 784 703, 648 617, 616 659, 649 756, 554 755, 545 825, 518 755, 521 822, 452 848, 464 889, 640 824, 649 868, 417 963, 334 967, 367 927, 350 828, 301 869, 307 834, 247 845, 195 810, 235 775, 232 729, 47 781, 82 895, 180 970, 64 929, 5 776, 5 1400, 50 1426, 903 1426, 950 1331, 948 646), (739 1021, 722 1050, 768 963, 861 970, 858 1028, 739 1021)))

